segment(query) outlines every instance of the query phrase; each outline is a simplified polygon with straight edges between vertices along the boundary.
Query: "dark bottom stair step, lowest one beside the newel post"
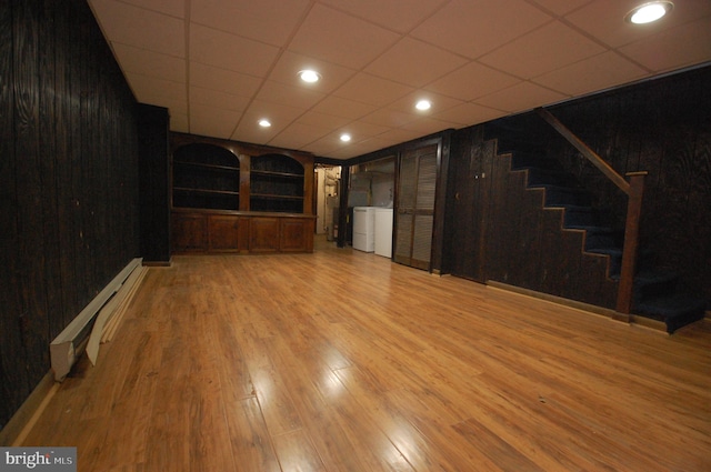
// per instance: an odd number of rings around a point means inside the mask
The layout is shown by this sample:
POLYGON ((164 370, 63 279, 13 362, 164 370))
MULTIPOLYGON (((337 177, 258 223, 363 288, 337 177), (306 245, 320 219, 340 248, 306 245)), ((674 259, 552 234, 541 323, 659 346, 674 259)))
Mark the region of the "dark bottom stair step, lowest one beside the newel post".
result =
POLYGON ((670 334, 679 328, 703 319, 704 310, 704 300, 680 293, 649 299, 637 303, 632 309, 635 314, 663 321, 670 334))

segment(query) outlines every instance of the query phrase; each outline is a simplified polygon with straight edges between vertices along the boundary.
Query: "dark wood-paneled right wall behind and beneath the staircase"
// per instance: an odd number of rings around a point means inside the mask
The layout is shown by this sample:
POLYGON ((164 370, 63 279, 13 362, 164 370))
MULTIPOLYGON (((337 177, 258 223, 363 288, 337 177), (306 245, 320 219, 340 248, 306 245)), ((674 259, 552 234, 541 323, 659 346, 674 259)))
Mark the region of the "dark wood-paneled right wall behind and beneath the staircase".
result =
MULTIPOLYGON (((641 245, 662 267, 681 274, 690 291, 711 300, 709 83, 711 67, 560 104, 551 111, 621 174, 649 171, 641 245)), ((580 241, 557 230, 560 218, 554 211, 537 210, 535 195, 523 191, 520 173, 508 172, 505 158, 491 161, 488 140, 499 139, 501 153, 510 149, 512 134, 555 157, 594 192, 599 207, 610 210, 607 223, 624 225, 627 200, 614 185, 534 113, 511 117, 452 137, 445 271, 611 307, 611 287, 588 287, 579 277, 581 271, 604 268, 584 254, 561 259, 560 248, 579 247, 580 241)))

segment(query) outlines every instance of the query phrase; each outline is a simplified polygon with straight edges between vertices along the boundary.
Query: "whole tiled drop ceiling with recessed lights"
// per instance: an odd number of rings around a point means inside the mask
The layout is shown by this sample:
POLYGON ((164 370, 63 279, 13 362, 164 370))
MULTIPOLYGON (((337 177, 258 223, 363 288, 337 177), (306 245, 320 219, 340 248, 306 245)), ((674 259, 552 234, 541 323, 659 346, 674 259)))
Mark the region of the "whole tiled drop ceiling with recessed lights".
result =
POLYGON ((711 61, 709 0, 641 27, 624 21, 630 0, 89 3, 136 98, 168 108, 172 131, 332 159, 711 61), (309 68, 319 82, 300 82, 309 68))

